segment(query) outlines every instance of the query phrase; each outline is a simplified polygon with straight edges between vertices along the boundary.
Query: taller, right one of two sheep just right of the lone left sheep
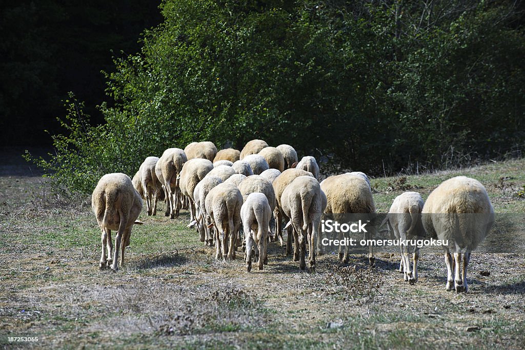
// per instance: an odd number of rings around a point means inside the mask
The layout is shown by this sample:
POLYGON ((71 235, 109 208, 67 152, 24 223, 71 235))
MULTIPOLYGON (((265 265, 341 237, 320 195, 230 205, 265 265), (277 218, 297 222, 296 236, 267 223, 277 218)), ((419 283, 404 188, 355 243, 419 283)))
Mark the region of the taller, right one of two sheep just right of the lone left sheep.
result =
POLYGON ((171 148, 164 151, 159 158, 161 163, 162 178, 167 193, 167 201, 170 204, 170 218, 178 218, 181 209, 181 194, 179 177, 184 163, 187 161, 183 150, 171 148))

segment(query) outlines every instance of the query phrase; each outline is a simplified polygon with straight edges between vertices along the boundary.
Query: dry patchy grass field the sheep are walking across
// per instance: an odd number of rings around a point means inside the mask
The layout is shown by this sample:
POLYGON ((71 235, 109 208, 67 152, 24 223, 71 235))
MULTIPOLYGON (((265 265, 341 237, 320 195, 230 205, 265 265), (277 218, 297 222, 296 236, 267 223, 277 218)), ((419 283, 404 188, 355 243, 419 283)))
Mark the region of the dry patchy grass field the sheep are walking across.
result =
MULTIPOLYGON (((516 196, 525 160, 455 172, 372 179, 378 211, 403 189, 424 198, 463 174, 479 179, 497 213, 525 213, 516 196)), ((163 213, 161 204, 160 214, 163 213)), ((525 347, 525 256, 472 254, 469 292, 445 290, 442 254, 423 248, 419 281, 354 255, 318 259, 317 272, 269 245, 265 270, 215 261, 179 219, 135 227, 125 267, 100 271, 100 231, 87 201, 68 204, 40 177, 0 177, 0 346, 24 348, 506 348, 525 347), (8 344, 5 336, 38 336, 8 344)), ((238 254, 238 256, 242 254, 238 254)))

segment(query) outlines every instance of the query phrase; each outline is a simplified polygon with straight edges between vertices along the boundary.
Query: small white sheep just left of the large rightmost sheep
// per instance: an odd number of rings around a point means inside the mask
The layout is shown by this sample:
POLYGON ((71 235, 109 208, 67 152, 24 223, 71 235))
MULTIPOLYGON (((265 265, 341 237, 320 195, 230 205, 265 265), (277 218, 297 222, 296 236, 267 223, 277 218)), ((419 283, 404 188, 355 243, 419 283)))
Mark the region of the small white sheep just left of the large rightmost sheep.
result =
MULTIPOLYGON (((360 176, 360 175, 358 175, 360 176)), ((390 211, 381 223, 386 222, 388 231, 396 239, 416 239, 424 236, 423 224, 421 222, 421 211, 423 210, 423 198, 417 192, 404 192, 397 196, 390 211)), ((419 248, 414 247, 414 270, 410 269, 407 246, 401 246, 401 262, 399 272, 404 275, 404 280, 410 284, 417 282, 417 262, 419 259, 419 248)))

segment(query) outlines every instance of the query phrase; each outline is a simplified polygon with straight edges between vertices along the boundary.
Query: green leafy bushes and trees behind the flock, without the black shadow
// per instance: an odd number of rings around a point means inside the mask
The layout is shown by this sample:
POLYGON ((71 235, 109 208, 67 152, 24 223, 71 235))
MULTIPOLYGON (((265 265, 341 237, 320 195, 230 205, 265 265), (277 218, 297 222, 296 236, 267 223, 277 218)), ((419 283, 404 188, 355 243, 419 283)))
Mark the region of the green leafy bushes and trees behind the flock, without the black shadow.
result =
POLYGON ((55 177, 90 192, 144 157, 210 140, 289 143, 321 167, 442 168, 525 140, 523 8, 510 1, 166 0, 116 60, 89 127, 71 99, 55 177))

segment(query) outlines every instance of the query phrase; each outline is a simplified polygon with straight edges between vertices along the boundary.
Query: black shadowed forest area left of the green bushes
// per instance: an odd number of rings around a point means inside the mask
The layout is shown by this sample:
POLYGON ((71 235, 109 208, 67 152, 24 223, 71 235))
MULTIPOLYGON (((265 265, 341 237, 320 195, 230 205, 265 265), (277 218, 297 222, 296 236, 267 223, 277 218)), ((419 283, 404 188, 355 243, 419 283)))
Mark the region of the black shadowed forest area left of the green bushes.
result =
POLYGON ((0 2, 0 146, 51 146, 69 91, 111 103, 101 70, 140 50, 140 34, 162 21, 154 0, 3 0, 0 2), (122 52, 123 53, 122 53, 122 52))

